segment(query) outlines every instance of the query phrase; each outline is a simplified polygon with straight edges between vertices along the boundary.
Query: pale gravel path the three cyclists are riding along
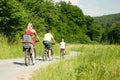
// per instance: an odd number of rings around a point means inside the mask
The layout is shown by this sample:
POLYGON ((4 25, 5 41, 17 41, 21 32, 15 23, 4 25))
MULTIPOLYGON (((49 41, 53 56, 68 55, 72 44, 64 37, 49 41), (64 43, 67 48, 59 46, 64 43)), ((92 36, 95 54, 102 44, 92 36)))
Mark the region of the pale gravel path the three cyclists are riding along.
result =
MULTIPOLYGON (((78 53, 70 52, 65 58, 77 56, 78 53)), ((24 58, 0 60, 0 80, 29 80, 34 71, 43 66, 56 62, 59 56, 54 56, 52 61, 42 61, 41 57, 36 58, 35 65, 25 66, 24 58)))

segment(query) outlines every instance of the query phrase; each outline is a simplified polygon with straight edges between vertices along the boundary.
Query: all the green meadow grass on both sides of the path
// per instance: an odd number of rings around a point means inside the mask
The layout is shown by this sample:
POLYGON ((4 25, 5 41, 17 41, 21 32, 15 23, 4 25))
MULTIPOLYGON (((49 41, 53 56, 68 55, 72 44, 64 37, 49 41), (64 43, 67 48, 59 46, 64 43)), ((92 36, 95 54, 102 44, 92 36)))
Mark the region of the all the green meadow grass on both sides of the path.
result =
MULTIPOLYGON (((0 59, 24 57, 22 43, 8 44, 0 35, 0 59)), ((42 42, 36 45, 37 56, 43 52, 42 42)), ((54 55, 59 55, 59 44, 53 45, 54 55)), ((69 60, 58 60, 40 68, 31 80, 120 80, 119 45, 68 44, 66 52, 80 52, 80 56, 69 60)))

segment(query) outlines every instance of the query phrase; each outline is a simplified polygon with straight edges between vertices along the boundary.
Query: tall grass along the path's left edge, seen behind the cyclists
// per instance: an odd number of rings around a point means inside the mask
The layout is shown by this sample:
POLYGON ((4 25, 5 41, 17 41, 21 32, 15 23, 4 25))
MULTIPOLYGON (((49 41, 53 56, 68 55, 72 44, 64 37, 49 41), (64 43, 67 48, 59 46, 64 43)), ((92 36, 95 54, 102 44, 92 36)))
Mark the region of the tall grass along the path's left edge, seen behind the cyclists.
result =
MULTIPOLYGON (((0 59, 12 59, 24 57, 21 40, 9 44, 8 39, 0 34, 0 59)), ((37 56, 41 56, 44 50, 42 41, 35 43, 37 56)), ((59 44, 52 46, 54 55, 59 55, 59 44)))

